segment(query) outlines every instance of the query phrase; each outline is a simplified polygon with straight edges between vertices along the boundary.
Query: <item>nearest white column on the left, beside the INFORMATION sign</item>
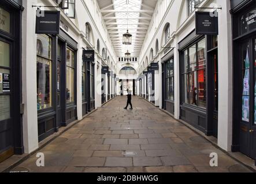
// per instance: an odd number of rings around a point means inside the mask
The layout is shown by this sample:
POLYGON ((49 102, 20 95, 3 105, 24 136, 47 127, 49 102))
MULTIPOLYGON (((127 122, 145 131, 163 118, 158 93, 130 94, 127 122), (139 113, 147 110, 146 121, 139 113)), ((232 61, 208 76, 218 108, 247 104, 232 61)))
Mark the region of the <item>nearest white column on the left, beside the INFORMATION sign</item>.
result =
POLYGON ((22 39, 22 90, 23 103, 23 143, 26 154, 38 148, 38 110, 36 91, 36 8, 37 1, 23 1, 23 39, 22 39))

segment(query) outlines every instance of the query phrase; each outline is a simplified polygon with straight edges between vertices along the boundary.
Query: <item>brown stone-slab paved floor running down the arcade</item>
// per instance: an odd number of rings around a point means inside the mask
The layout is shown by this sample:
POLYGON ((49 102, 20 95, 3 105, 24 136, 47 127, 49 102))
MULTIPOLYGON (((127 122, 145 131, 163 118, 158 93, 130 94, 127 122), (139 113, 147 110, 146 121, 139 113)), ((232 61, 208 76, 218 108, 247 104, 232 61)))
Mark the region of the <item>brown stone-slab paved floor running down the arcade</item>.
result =
POLYGON ((124 110, 117 97, 21 163, 31 172, 229 172, 250 171, 203 137, 140 97, 124 110), (218 154, 210 167, 209 154, 218 154))

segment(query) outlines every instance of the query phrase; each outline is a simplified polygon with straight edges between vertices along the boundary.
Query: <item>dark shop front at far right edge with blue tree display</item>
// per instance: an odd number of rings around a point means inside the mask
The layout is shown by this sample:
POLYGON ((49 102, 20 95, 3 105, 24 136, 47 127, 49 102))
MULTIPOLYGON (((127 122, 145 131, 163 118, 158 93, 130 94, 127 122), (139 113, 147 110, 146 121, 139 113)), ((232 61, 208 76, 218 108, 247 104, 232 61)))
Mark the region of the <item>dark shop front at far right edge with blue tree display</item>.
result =
POLYGON ((232 151, 256 159, 256 3, 231 1, 233 25, 232 151))

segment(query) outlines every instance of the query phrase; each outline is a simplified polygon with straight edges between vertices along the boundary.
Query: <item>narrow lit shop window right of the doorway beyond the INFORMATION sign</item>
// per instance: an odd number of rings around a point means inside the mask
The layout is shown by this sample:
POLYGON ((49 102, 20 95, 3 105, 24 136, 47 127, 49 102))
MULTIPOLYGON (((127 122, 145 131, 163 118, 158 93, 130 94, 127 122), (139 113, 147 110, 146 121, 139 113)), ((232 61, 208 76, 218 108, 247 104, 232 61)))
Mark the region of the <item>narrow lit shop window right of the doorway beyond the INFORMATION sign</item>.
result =
POLYGON ((66 102, 75 101, 74 81, 75 77, 75 52, 71 49, 66 49, 66 102))

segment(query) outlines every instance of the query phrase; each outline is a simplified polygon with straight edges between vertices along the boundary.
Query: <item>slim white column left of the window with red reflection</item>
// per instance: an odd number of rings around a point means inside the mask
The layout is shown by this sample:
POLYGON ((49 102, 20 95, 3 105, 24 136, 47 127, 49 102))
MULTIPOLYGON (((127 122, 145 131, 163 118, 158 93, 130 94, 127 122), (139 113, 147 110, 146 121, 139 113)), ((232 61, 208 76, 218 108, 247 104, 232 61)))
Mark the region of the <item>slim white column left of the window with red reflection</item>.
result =
MULTIPOLYGON (((175 39, 176 43, 176 39, 175 39)), ((174 48, 174 80, 175 80, 175 118, 180 118, 180 67, 179 67, 179 50, 178 44, 174 48)))

